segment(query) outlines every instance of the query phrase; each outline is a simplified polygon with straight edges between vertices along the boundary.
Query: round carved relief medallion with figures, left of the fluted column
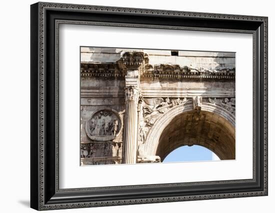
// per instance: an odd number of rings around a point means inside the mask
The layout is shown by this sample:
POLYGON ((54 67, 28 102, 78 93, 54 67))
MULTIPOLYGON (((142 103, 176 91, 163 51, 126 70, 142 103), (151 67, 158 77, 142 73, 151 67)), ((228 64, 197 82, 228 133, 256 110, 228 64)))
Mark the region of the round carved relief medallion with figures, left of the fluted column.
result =
POLYGON ((86 122, 85 130, 88 137, 96 141, 114 139, 121 131, 122 120, 117 111, 103 108, 95 111, 86 122))

